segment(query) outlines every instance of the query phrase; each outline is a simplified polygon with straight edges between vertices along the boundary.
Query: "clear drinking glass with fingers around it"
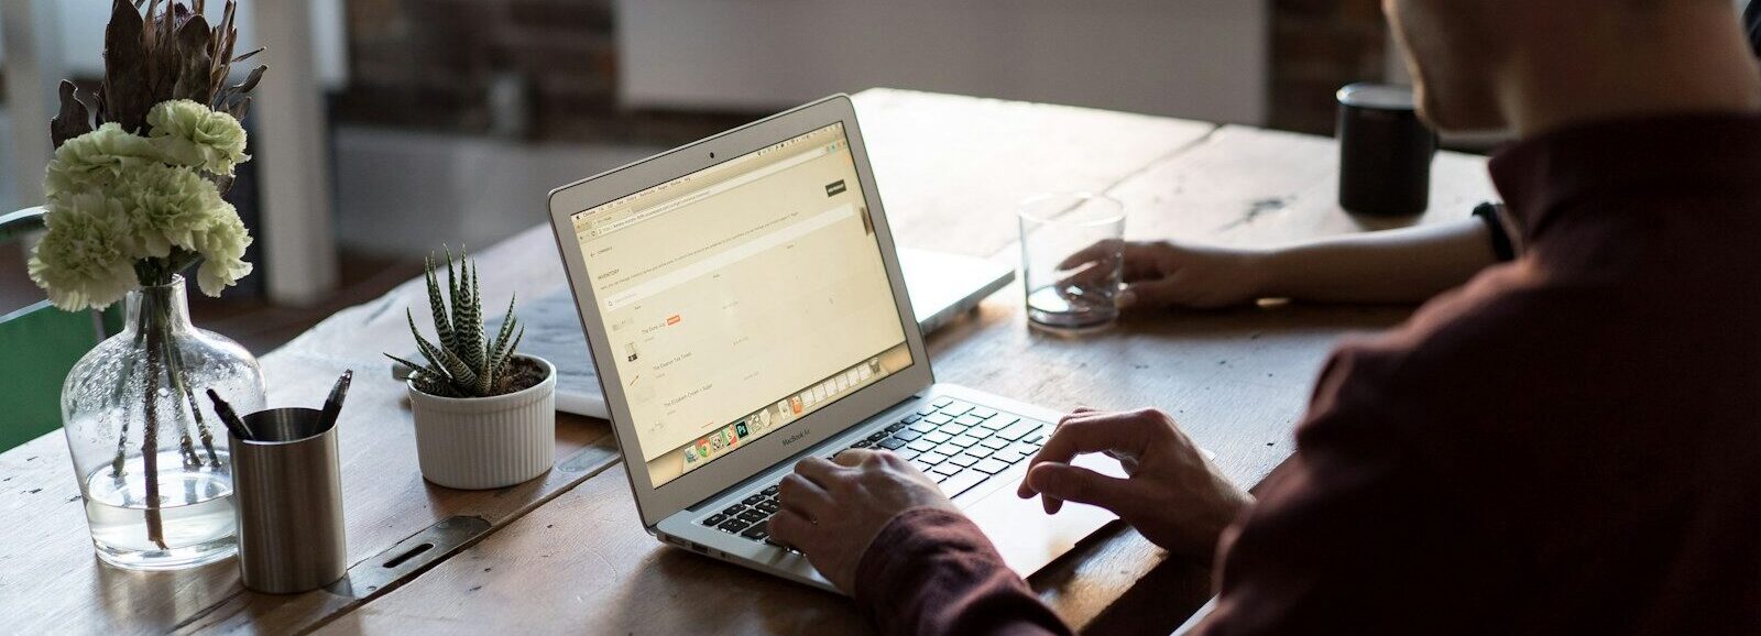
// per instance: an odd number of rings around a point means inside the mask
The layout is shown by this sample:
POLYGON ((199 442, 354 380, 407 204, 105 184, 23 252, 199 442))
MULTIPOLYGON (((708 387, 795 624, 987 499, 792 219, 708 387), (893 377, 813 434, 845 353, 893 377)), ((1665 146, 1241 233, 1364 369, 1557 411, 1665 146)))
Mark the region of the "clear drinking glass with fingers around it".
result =
POLYGON ((1027 197, 1021 285, 1030 326, 1085 331, 1113 324, 1125 245, 1125 204, 1092 192, 1027 197))

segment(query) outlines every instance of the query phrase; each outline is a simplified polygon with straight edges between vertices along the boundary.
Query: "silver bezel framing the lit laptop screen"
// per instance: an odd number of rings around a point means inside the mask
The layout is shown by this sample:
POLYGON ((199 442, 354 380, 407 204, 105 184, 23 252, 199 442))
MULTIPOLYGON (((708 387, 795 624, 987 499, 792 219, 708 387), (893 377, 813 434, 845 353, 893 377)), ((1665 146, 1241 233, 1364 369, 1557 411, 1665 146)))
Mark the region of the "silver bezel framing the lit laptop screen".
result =
MULTIPOLYGON (((814 447, 826 439, 844 433, 866 418, 893 407, 914 393, 935 382, 930 372, 930 356, 923 345, 923 333, 910 308, 910 296, 905 291, 905 277, 900 271, 898 250, 893 245, 893 231, 886 220, 886 208, 880 204, 880 192, 875 185, 873 169, 868 166, 868 146, 856 123, 856 107, 849 95, 831 95, 817 102, 773 115, 770 118, 747 123, 740 129, 669 150, 666 153, 608 171, 576 183, 564 185, 549 192, 551 231, 556 236, 556 248, 562 254, 569 287, 574 291, 576 310, 581 328, 586 333, 588 349, 593 352, 599 372, 599 388, 606 395, 606 407, 611 414, 611 430, 623 455, 625 472, 630 490, 636 495, 636 507, 643 525, 653 527, 660 520, 694 506, 711 495, 733 486, 754 474, 775 467, 814 447), (851 157, 856 164, 856 176, 861 181, 863 199, 868 206, 870 220, 875 227, 875 240, 880 248, 880 261, 886 264, 888 282, 893 287, 893 303, 900 326, 905 331, 905 345, 910 349, 910 366, 888 375, 854 395, 833 402, 831 405, 792 421, 787 426, 759 437, 710 462, 699 469, 685 472, 666 484, 655 486, 648 476, 648 463, 636 444, 636 426, 630 421, 629 400, 623 395, 623 382, 616 365, 599 365, 601 359, 613 359, 611 345, 602 328, 599 300, 588 285, 586 263, 574 236, 571 217, 576 213, 639 192, 643 189, 666 183, 669 180, 692 174, 696 171, 748 155, 775 143, 844 123, 845 139, 851 144, 851 157), (713 155, 713 159, 711 159, 713 155)), ((858 361, 851 361, 852 365, 858 361)), ((778 396, 784 398, 784 396, 778 396)))

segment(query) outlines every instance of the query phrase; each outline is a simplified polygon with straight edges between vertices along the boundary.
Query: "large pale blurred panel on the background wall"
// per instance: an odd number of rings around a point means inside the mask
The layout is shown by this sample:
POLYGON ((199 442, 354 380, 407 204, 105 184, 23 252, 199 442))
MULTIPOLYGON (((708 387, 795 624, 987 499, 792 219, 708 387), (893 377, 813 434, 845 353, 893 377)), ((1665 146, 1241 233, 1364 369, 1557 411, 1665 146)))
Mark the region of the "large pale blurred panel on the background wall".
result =
POLYGON ((618 0, 627 106, 773 109, 847 86, 1263 123, 1242 0, 618 0))

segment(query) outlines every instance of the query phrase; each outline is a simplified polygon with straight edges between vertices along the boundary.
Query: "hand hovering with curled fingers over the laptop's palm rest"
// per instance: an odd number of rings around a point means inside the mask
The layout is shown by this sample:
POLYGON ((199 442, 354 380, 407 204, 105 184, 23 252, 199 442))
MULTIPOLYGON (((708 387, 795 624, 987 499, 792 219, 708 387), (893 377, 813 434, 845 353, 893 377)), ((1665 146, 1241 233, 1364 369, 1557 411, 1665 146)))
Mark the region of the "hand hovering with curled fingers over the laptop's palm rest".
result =
POLYGON ((1101 506, 1152 543, 1206 562, 1215 557, 1222 530, 1254 502, 1217 472, 1173 418, 1155 409, 1078 409, 1064 416, 1016 493, 1021 499, 1037 493, 1048 514, 1065 500, 1101 506), (1083 453, 1118 458, 1129 477, 1071 465, 1083 453))

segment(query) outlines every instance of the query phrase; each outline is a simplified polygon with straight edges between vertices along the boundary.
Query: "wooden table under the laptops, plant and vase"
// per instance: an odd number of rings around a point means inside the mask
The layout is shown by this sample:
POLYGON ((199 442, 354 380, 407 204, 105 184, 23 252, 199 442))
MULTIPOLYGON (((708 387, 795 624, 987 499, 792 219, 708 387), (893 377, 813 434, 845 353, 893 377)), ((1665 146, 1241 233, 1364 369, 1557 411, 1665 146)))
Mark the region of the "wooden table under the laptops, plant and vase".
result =
MULTIPOLYGON (((1124 113, 870 90, 856 95, 875 178, 903 245, 1014 259, 1013 203, 1041 190, 1125 201, 1127 234, 1277 245, 1372 229, 1335 203, 1330 139, 1124 113)), ((1485 160, 1442 153, 1432 213, 1492 197, 1485 160)), ((537 210, 519 213, 539 217, 537 210)), ((1407 220, 1412 222, 1412 220, 1407 220)), ((564 284, 548 227, 479 252, 490 307, 564 284)), ((271 405, 317 403, 361 370, 342 418, 343 585, 239 588, 232 562, 174 574, 99 566, 60 433, 0 455, 0 608, 19 632, 865 632, 842 597, 671 550, 641 529, 602 421, 558 416, 558 467, 493 492, 428 484, 403 388, 380 351, 407 349, 419 280, 324 321, 262 358, 271 405), (451 521, 447 521, 451 520, 451 521), (446 521, 449 529, 433 529, 446 521), (402 567, 384 562, 435 543, 402 567), (350 585, 352 581, 352 585, 350 585)), ((1291 428, 1333 344, 1409 308, 1278 305, 1127 319, 1083 338, 1027 329, 1006 289, 930 338, 937 379, 1051 407, 1159 405, 1240 484, 1291 453, 1291 428)), ((1168 632, 1208 571, 1115 523, 1030 583, 1088 632, 1168 632)))

